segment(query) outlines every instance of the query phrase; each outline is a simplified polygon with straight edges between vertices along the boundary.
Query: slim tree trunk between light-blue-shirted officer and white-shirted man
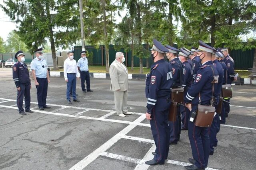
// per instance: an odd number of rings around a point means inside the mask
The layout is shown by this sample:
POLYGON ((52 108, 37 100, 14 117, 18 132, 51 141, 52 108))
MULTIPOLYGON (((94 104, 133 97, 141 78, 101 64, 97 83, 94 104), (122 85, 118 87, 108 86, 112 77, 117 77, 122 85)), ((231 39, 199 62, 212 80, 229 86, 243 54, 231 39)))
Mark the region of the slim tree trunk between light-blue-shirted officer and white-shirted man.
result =
POLYGON ((56 51, 55 51, 55 43, 54 43, 54 36, 53 36, 53 31, 52 31, 52 22, 51 22, 51 15, 50 15, 50 9, 49 9, 49 4, 46 3, 46 13, 47 13, 47 18, 49 20, 49 32, 50 32, 50 43, 51 43, 51 50, 52 50, 52 62, 53 62, 53 69, 58 70, 58 64, 57 64, 57 57, 56 57, 56 51))

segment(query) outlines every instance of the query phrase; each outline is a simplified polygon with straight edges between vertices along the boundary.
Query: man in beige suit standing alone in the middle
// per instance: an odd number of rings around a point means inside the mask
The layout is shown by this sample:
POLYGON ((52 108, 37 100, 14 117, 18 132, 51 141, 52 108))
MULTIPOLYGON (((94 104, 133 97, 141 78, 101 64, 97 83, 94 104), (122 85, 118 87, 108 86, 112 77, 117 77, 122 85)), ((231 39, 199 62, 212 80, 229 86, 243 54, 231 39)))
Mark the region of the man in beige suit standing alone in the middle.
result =
POLYGON ((128 70, 124 65, 124 53, 117 52, 116 59, 109 67, 110 90, 114 91, 114 101, 118 116, 130 115, 127 109, 127 90, 129 89, 128 70))

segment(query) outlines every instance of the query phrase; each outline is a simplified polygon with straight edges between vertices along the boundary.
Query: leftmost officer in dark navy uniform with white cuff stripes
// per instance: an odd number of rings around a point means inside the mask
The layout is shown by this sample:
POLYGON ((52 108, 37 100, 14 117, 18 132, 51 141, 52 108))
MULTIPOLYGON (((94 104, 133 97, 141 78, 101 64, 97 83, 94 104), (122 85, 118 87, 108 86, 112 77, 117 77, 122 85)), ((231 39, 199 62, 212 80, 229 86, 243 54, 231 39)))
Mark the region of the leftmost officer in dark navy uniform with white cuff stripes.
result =
POLYGON ((18 62, 12 66, 12 78, 17 88, 17 106, 21 115, 26 115, 23 109, 23 97, 25 97, 25 111, 33 113, 30 110, 30 77, 28 73, 28 66, 24 63, 25 55, 22 51, 15 54, 15 59, 18 62))

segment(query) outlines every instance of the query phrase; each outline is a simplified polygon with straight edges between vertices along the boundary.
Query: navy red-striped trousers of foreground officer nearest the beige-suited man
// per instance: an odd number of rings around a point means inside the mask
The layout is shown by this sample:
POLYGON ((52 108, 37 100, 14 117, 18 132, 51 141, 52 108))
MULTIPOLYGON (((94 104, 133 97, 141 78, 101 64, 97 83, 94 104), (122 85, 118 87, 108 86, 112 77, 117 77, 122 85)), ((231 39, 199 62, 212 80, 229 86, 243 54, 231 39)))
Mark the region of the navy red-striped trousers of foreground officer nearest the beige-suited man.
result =
POLYGON ((170 104, 170 96, 158 98, 153 113, 151 113, 150 125, 156 144, 154 160, 161 163, 164 163, 169 153, 170 128, 168 114, 170 104))

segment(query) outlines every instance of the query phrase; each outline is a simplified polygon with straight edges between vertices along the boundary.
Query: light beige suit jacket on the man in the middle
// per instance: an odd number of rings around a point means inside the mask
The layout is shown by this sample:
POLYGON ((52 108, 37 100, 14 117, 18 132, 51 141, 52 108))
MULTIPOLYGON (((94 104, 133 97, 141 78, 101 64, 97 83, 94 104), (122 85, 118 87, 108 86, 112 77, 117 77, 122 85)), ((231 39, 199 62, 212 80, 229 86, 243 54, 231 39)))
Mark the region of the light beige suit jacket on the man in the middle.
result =
POLYGON ((110 90, 115 92, 124 92, 129 89, 128 70, 123 63, 117 60, 109 67, 109 75, 111 79, 110 90), (119 91, 117 91, 120 89, 119 91))

